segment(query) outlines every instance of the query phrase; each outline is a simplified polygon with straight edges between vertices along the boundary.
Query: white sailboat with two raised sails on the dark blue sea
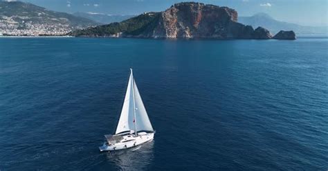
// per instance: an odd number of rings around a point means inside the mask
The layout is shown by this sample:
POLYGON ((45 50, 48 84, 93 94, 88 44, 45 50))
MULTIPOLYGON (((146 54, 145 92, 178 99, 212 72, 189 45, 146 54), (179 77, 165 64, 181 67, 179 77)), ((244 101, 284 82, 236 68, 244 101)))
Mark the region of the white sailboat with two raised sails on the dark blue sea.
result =
POLYGON ((132 69, 130 70, 127 92, 116 132, 104 135, 106 141, 99 147, 100 152, 133 148, 154 139, 155 131, 143 105, 136 81, 134 81, 132 69))

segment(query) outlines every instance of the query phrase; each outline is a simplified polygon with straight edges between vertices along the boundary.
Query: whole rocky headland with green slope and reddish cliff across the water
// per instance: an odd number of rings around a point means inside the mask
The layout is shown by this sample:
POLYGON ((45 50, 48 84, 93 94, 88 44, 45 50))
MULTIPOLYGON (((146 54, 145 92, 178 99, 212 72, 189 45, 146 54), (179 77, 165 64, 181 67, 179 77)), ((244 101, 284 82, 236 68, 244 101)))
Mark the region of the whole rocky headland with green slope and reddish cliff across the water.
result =
POLYGON ((143 37, 204 39, 271 39, 265 28, 253 29, 237 22, 237 11, 204 3, 176 3, 163 12, 71 32, 78 37, 143 37))

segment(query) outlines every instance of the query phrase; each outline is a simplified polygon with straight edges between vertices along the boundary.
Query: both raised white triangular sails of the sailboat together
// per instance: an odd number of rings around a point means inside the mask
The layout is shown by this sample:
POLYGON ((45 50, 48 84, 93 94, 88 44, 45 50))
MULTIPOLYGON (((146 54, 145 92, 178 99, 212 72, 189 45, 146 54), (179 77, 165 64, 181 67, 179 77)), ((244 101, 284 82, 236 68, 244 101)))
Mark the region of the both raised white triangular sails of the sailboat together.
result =
POLYGON ((118 127, 116 128, 115 134, 125 132, 129 130, 134 131, 154 131, 152 123, 150 123, 148 114, 143 100, 140 97, 139 90, 134 81, 134 76, 131 69, 129 77, 129 83, 127 84, 127 92, 120 113, 120 120, 118 121, 118 127))

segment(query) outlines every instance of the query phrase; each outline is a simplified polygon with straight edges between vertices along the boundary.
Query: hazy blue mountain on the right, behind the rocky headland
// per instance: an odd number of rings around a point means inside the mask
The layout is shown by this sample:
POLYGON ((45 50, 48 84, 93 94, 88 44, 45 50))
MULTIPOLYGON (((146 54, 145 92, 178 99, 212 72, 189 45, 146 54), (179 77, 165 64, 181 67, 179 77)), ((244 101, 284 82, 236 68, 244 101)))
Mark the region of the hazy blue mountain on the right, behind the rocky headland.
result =
POLYGON ((296 34, 328 34, 328 27, 300 26, 295 23, 277 21, 266 13, 258 13, 251 17, 238 17, 238 22, 254 28, 262 26, 274 34, 280 30, 293 30, 296 34))

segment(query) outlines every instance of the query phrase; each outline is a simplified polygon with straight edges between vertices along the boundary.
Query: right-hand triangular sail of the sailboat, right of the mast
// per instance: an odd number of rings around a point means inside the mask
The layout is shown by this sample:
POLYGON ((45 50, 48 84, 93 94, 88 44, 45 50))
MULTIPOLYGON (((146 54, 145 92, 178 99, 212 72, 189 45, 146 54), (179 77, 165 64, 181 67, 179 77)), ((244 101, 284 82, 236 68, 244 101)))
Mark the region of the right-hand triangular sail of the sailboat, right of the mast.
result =
POLYGON ((141 99, 139 90, 136 86, 136 81, 134 81, 134 100, 136 104, 136 130, 154 131, 152 123, 149 121, 145 105, 143 105, 143 100, 141 99))

